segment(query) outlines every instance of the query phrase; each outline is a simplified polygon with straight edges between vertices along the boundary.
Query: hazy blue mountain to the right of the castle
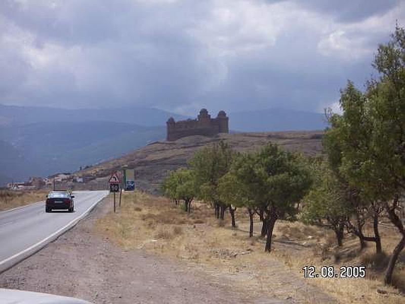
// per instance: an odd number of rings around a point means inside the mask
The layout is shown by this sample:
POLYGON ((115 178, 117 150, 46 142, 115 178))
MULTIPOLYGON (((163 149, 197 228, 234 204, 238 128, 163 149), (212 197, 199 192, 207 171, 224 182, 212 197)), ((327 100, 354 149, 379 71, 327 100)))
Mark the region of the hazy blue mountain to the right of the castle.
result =
POLYGON ((233 131, 323 130, 325 115, 291 109, 264 109, 229 113, 229 128, 233 131))

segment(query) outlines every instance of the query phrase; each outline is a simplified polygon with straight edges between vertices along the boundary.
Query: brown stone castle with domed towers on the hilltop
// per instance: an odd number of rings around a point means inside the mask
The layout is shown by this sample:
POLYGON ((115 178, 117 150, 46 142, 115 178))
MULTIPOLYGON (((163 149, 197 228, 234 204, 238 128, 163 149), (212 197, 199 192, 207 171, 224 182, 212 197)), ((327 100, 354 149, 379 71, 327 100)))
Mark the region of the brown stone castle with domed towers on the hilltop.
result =
POLYGON ((201 109, 197 119, 175 122, 171 117, 166 123, 166 139, 172 141, 190 135, 213 136, 218 133, 229 133, 228 120, 224 111, 219 111, 216 118, 211 118, 207 109, 201 109))

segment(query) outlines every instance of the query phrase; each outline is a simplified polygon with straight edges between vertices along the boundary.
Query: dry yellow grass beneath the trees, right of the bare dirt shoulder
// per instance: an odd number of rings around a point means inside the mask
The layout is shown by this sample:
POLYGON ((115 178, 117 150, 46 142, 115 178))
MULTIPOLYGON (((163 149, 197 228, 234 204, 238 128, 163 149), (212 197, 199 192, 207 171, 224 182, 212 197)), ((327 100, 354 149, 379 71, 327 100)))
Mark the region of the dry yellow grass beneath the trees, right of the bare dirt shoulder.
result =
MULTIPOLYGON (((126 193, 117 213, 99 219, 97 233, 126 249, 144 249, 186 261, 215 276, 232 278, 234 284, 249 289, 250 295, 264 294, 293 297, 298 302, 325 302, 319 290, 343 303, 403 303, 405 298, 392 287, 382 284, 384 257, 374 256, 374 247, 358 254, 356 238, 346 238, 344 247, 335 246, 334 234, 300 222, 277 221, 273 251, 263 252, 264 240, 258 219, 255 236, 249 238, 247 214, 238 209, 238 229, 231 229, 229 216, 214 218, 214 211, 203 203, 192 203, 187 214, 165 198, 144 193, 126 193), (321 265, 368 264, 365 279, 303 279, 302 267, 321 265), (381 266, 379 268, 379 265, 381 266), (379 290, 380 292, 377 292, 379 290)), ((382 230, 383 248, 391 252, 398 241, 394 231, 382 230)), ((404 286, 405 263, 400 257, 394 274, 398 286, 404 286)))

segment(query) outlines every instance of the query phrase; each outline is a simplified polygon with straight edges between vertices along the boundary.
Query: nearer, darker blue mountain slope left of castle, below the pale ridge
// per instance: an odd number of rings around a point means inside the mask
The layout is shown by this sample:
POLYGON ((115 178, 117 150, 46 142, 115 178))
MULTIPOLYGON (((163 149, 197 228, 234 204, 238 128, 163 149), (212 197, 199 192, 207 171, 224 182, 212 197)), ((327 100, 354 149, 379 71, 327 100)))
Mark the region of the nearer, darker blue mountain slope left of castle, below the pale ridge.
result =
MULTIPOLYGON (((0 128, 0 148, 9 180, 75 171, 165 138, 165 127, 115 122, 43 122, 0 128), (22 153, 23 151, 23 153, 22 153)), ((3 178, 4 179, 4 178, 3 178)))

